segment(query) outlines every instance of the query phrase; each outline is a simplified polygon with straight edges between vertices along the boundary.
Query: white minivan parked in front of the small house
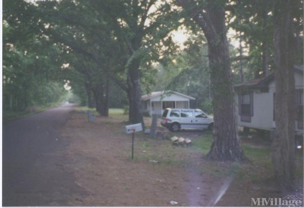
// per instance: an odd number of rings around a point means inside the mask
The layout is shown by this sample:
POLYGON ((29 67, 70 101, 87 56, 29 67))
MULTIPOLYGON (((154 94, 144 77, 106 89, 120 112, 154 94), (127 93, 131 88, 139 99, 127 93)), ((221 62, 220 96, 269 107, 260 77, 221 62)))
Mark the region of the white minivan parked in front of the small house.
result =
POLYGON ((213 129, 213 118, 200 109, 167 108, 162 115, 163 127, 173 132, 180 129, 213 129))

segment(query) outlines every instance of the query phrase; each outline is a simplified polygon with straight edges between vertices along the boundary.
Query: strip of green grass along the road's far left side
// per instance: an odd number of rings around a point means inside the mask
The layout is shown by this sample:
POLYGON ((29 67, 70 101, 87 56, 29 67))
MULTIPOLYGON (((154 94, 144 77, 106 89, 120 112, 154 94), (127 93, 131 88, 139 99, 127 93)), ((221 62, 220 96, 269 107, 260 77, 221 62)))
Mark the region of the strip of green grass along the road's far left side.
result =
POLYGON ((32 106, 31 110, 22 110, 22 111, 12 111, 12 110, 7 111, 7 110, 4 110, 2 112, 3 122, 5 123, 5 122, 10 121, 10 120, 15 120, 15 119, 22 118, 22 117, 25 117, 25 116, 28 116, 28 115, 39 113, 39 112, 45 111, 49 108, 56 107, 60 104, 61 103, 51 103, 51 104, 44 105, 44 106, 32 106))

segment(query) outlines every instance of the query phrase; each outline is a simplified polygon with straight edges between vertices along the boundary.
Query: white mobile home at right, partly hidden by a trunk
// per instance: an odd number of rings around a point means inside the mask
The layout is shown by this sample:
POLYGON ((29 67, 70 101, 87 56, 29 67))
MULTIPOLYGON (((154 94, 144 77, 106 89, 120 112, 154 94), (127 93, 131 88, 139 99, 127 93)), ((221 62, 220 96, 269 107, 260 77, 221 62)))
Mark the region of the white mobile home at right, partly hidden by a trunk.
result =
MULTIPOLYGON (((303 65, 294 66, 296 120, 295 132, 303 134, 303 65)), ((251 129, 272 131, 274 116, 275 77, 254 79, 235 85, 238 125, 251 129)))

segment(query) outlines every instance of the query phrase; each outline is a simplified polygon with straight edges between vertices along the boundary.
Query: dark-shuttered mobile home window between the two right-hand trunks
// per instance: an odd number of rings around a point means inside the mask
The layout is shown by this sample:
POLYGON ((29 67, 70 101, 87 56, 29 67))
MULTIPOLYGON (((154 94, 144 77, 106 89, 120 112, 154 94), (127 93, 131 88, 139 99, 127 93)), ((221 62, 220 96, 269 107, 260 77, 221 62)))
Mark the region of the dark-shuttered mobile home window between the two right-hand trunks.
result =
POLYGON ((239 95, 239 114, 241 121, 251 122, 253 116, 253 93, 242 93, 239 95))

